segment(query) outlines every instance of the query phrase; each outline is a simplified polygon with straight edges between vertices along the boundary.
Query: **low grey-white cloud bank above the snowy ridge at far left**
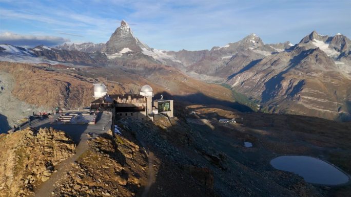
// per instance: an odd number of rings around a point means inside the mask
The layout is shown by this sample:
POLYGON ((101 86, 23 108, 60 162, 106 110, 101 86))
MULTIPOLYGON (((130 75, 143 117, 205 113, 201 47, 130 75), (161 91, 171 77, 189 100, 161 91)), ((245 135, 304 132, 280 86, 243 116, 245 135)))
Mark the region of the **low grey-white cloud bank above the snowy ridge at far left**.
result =
POLYGON ((56 36, 19 35, 12 32, 0 33, 0 43, 20 47, 35 47, 38 45, 56 46, 69 41, 70 39, 56 36))

